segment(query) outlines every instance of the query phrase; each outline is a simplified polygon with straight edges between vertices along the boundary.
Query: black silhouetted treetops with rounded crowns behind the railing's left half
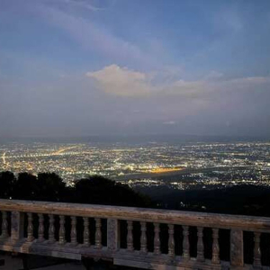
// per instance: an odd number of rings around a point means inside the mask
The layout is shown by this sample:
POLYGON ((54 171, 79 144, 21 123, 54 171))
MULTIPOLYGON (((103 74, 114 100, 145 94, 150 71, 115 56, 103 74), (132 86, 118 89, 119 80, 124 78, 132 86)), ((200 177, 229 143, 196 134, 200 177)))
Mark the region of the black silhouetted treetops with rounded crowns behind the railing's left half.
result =
POLYGON ((0 173, 0 198, 47 202, 78 202, 150 207, 147 196, 133 191, 128 185, 115 183, 102 176, 89 176, 67 186, 54 173, 31 175, 0 173))

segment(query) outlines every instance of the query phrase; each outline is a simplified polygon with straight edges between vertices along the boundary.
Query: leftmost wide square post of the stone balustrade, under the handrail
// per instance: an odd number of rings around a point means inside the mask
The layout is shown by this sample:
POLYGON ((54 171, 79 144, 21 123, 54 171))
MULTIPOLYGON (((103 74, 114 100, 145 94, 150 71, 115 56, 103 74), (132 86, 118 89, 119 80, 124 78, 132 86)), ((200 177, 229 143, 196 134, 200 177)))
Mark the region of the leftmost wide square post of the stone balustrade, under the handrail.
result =
POLYGON ((24 213, 12 211, 11 213, 11 239, 17 242, 23 238, 24 213))

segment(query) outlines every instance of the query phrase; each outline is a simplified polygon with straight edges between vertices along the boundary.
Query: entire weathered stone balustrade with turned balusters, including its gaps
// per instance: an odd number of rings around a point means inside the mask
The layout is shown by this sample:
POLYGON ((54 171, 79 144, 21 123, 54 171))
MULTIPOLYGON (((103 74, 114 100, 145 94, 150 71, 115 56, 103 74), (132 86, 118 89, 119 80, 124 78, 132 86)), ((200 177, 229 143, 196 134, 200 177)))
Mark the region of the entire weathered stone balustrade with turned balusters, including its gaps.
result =
POLYGON ((270 265, 268 218, 14 200, 0 200, 0 213, 4 251, 146 269, 270 265))

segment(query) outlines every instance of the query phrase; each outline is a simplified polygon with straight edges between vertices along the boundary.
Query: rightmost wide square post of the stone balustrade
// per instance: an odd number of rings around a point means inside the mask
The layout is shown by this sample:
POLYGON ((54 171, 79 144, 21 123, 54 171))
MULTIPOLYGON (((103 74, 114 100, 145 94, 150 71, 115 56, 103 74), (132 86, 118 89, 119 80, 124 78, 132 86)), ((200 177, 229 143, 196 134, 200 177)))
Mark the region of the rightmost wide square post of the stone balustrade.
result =
POLYGON ((230 230, 230 265, 244 266, 243 230, 230 230))

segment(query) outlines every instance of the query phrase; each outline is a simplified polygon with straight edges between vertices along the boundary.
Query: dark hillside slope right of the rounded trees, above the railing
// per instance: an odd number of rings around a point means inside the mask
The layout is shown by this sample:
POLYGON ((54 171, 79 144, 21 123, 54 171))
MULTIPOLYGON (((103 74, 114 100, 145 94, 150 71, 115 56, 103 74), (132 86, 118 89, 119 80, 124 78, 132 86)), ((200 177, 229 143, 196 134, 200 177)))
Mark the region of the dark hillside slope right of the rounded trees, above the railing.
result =
POLYGON ((148 195, 160 208, 270 217, 268 186, 242 184, 214 190, 190 191, 157 186, 137 188, 136 191, 148 195))

